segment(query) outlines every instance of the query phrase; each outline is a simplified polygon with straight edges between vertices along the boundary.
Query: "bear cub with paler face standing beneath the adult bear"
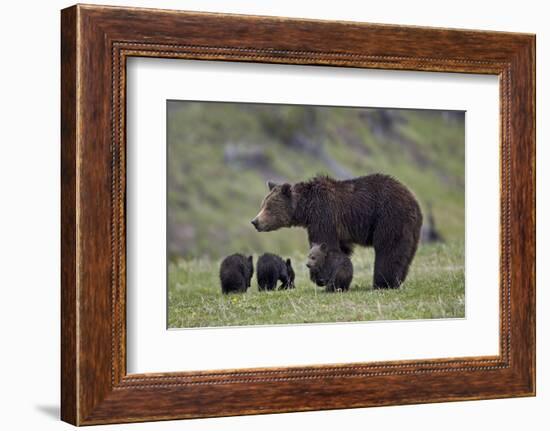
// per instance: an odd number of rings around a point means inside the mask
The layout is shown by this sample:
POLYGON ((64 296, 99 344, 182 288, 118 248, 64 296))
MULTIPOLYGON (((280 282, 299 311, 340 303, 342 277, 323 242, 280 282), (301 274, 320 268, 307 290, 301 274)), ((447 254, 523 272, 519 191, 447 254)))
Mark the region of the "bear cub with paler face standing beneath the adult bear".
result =
POLYGON ((326 286, 327 292, 349 290, 353 279, 353 264, 343 252, 329 250, 325 243, 313 244, 306 266, 309 277, 317 286, 326 286))

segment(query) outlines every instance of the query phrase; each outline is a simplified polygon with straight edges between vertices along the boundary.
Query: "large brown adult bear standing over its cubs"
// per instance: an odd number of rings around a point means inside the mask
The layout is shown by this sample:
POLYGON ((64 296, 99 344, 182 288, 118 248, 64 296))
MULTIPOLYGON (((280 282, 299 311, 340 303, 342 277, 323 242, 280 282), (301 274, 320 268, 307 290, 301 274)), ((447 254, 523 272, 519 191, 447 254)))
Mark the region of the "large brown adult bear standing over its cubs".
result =
POLYGON ((347 255, 353 245, 375 251, 375 288, 398 287, 406 278, 422 226, 413 194, 396 179, 373 174, 337 181, 318 176, 296 184, 268 182, 269 193, 252 224, 259 232, 307 229, 309 245, 326 243, 347 255))

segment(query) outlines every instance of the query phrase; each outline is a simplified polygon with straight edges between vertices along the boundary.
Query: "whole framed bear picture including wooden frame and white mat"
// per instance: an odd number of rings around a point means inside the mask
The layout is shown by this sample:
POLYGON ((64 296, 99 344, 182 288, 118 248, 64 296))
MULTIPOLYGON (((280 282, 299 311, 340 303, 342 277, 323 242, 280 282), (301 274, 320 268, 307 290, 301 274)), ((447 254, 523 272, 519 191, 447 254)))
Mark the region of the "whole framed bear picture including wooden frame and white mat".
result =
POLYGON ((535 37, 61 13, 62 419, 535 394, 535 37))

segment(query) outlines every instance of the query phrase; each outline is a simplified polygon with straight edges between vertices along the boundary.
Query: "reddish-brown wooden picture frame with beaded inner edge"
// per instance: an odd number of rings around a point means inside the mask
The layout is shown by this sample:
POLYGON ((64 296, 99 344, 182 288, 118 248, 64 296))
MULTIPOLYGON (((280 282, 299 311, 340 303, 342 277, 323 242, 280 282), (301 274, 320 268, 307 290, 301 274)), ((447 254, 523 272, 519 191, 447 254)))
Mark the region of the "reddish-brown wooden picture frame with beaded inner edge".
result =
POLYGON ((64 9, 61 18, 64 421, 90 425, 535 394, 534 35, 82 5, 64 9), (498 75, 500 354, 128 375, 130 56, 498 75))

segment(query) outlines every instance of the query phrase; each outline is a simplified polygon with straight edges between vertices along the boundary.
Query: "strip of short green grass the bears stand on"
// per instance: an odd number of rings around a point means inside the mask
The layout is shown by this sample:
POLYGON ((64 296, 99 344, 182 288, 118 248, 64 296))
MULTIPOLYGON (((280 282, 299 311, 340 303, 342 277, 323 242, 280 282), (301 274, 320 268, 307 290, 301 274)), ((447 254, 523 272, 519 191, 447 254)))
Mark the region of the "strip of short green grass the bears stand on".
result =
MULTIPOLYGON (((421 245, 406 282, 373 290, 374 253, 358 248, 349 292, 327 293, 309 281, 305 254, 291 256, 296 289, 222 295, 219 261, 179 260, 168 268, 168 326, 274 325, 464 317, 464 244, 421 245)), ((256 260, 257 256, 254 256, 256 260)))

